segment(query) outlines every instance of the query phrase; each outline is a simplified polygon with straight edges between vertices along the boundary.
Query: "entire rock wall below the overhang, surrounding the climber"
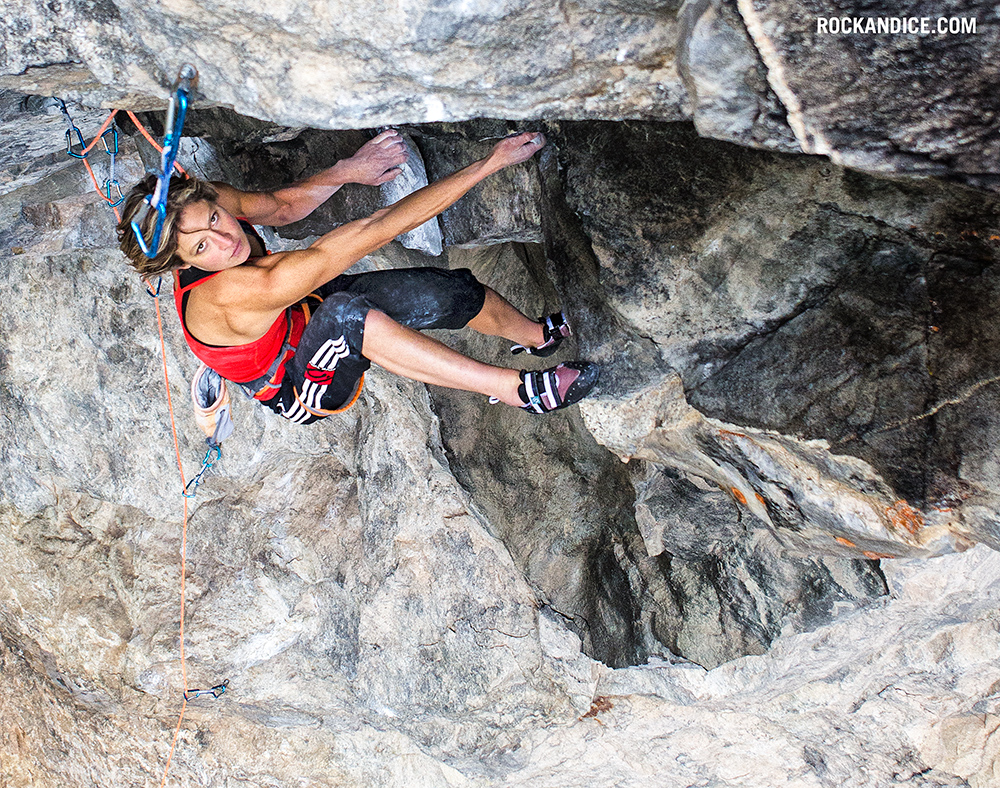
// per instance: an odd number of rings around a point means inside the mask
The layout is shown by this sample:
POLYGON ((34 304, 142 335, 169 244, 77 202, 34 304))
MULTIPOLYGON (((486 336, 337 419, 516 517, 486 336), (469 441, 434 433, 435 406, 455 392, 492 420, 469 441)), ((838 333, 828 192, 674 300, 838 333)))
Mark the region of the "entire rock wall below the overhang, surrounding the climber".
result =
MULTIPOLYGON (((251 187, 292 180, 364 139, 214 115, 192 119, 201 136, 186 141, 185 160, 251 187)), ((911 258, 926 260, 920 271, 941 263, 951 300, 939 303, 952 306, 933 323, 919 314, 939 327, 925 343, 950 337, 936 358, 957 392, 934 420, 955 460, 949 483, 965 496, 954 503, 964 530, 945 535, 988 539, 973 526, 996 516, 995 351, 981 317, 995 246, 950 233, 961 211, 961 230, 992 226, 993 203, 699 147, 685 127, 548 131, 540 168, 510 186, 537 189, 529 207, 545 247, 426 258, 394 244, 365 265, 468 265, 529 314, 566 305, 577 330, 565 353, 605 365, 599 398, 540 420, 472 395, 428 398, 374 371, 354 410, 295 430, 237 395, 223 472, 192 505, 185 619, 189 686, 230 686, 189 705, 172 782, 990 785, 996 554, 884 562, 891 598, 881 601, 877 565, 848 558, 883 543, 937 549, 940 535, 930 496, 911 498, 924 527, 905 529, 915 515, 894 499, 913 472, 894 471, 899 449, 859 441, 837 455, 823 431, 842 427, 831 402, 873 401, 866 417, 890 424, 910 414, 913 379, 880 360, 896 346, 869 350, 891 321, 822 335, 825 351, 847 358, 863 345, 869 360, 848 367, 851 392, 816 387, 804 427, 779 407, 790 392, 753 389, 757 378, 737 372, 756 340, 841 315, 824 300, 831 282, 837 303, 875 320, 881 302, 870 296, 881 291, 862 274, 877 272, 885 256, 870 252, 887 238, 915 250, 888 256, 887 280, 911 258), (823 211, 848 227, 818 222, 823 211), (845 242, 855 235, 864 242, 845 242), (886 377, 889 394, 864 393, 886 377), (962 399, 968 388, 976 396, 962 399), (623 465, 595 437, 635 459, 623 465), (851 501, 882 510, 852 525, 851 501), (832 538, 842 533, 881 541, 851 547, 832 538), (840 557, 816 557, 817 545, 840 557)), ((472 155, 467 140, 489 133, 473 124, 412 138, 434 172, 427 151, 472 155)), ((134 177, 142 163, 131 138, 125 147, 120 164, 134 177)), ((50 161, 42 151, 37 166, 50 161)), ((0 557, 13 568, 0 581, 0 774, 12 785, 155 784, 182 685, 179 480, 155 319, 86 175, 22 175, 0 225, 0 557)), ((345 189, 289 234, 309 237, 383 199, 345 189)), ((529 226, 526 210, 493 200, 474 195, 465 209, 477 240, 529 226)), ((917 301, 901 297, 893 320, 916 321, 917 301)), ((183 404, 194 364, 169 314, 165 327, 190 475, 201 456, 183 404)), ((790 336, 802 378, 781 374, 811 380, 804 337, 817 334, 790 336)), ((449 341, 509 362, 499 340, 449 341)), ((911 462, 933 470, 935 456, 911 462)))

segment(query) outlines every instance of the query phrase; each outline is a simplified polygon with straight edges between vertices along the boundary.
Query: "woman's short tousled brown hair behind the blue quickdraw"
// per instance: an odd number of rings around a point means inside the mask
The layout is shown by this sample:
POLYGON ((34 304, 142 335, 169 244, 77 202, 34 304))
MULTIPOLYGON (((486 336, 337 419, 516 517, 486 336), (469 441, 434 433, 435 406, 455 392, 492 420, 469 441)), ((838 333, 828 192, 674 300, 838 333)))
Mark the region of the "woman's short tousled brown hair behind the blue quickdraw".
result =
MULTIPOLYGON (((156 190, 156 175, 149 174, 132 187, 125 198, 122 218, 118 222, 118 245, 132 267, 144 279, 180 268, 184 262, 177 257, 177 218, 188 205, 205 200, 215 202, 218 192, 208 181, 184 175, 174 175, 167 191, 166 218, 160 231, 160 245, 155 257, 146 257, 132 231, 132 220, 141 212, 146 197, 156 190)), ((156 211, 150 210, 139 227, 148 244, 156 226, 156 211)))

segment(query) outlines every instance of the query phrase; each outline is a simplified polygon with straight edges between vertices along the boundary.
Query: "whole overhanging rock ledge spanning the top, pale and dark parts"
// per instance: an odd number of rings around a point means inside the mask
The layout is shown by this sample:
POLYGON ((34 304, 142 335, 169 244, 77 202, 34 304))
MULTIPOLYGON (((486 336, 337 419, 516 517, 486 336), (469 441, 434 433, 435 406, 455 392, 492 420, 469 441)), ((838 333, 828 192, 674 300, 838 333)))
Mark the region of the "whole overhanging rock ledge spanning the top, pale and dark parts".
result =
MULTIPOLYGON (((907 0, 927 32, 824 33, 857 0, 149 5, 12 0, 0 87, 89 106, 199 101, 290 126, 477 117, 693 119, 710 137, 996 188, 1000 20, 985 0, 907 0), (938 32, 938 19, 975 30, 938 32)), ((887 17, 885 17, 887 18, 887 17)))

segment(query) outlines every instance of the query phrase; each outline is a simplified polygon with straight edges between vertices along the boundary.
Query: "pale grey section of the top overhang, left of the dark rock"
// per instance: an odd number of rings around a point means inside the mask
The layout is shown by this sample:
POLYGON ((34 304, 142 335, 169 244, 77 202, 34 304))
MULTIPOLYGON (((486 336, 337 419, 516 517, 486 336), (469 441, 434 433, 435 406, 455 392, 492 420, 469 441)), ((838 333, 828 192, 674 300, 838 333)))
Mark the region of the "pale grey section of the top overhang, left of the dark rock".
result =
POLYGON ((4 86, 21 92, 83 93, 96 105, 134 102, 134 91, 148 106, 166 98, 186 59, 209 102, 314 128, 483 115, 679 119, 685 93, 670 10, 480 2, 341 6, 332 15, 292 3, 53 10, 17 0, 0 74, 16 75, 4 86), (49 73, 67 63, 80 67, 49 73))

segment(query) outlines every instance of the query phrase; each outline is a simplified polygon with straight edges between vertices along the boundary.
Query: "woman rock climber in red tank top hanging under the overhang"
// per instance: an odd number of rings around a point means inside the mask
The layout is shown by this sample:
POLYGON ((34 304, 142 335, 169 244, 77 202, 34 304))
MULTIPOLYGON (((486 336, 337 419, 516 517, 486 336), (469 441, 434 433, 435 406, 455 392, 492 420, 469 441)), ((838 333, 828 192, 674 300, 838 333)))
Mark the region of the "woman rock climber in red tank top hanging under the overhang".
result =
MULTIPOLYGON (((541 372, 482 364, 419 329, 469 327, 547 356, 569 335, 561 313, 529 320, 468 269, 408 268, 345 274, 355 262, 419 227, 488 175, 531 158, 540 134, 499 142, 488 156, 366 219, 349 222, 307 249, 268 254, 251 225, 308 216, 344 183, 377 185, 407 158, 395 130, 351 158, 292 186, 244 192, 175 176, 157 254, 147 258, 131 230, 155 176, 125 202, 118 239, 144 277, 174 272, 174 299, 188 345, 223 377, 291 421, 308 424, 357 399, 370 362, 423 383, 486 394, 532 413, 579 402, 598 368, 574 361, 541 372)), ((142 229, 152 235, 155 212, 142 229)))

